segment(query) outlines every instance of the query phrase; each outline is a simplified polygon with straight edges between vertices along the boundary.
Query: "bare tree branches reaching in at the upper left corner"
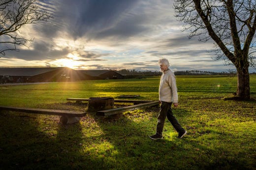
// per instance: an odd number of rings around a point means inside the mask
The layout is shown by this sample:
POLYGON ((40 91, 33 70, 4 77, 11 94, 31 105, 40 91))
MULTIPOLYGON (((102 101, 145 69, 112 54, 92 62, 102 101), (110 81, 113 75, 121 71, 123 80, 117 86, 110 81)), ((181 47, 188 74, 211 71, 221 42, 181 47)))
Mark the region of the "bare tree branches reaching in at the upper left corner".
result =
POLYGON ((51 15, 39 5, 37 0, 0 0, 0 54, 16 50, 17 45, 26 46, 32 39, 20 36, 19 29, 25 24, 47 21, 51 15))

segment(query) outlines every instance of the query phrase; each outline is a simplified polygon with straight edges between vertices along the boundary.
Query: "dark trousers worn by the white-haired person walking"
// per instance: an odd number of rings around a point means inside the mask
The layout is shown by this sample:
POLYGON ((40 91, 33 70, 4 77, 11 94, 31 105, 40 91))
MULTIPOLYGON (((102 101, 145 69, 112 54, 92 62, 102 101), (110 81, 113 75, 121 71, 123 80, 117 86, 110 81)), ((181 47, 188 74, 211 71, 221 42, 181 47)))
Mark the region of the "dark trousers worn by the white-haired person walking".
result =
POLYGON ((173 116, 172 110, 171 110, 172 103, 168 102, 161 102, 161 108, 158 115, 158 124, 157 124, 157 135, 162 136, 162 130, 165 118, 167 116, 168 121, 171 122, 172 126, 175 128, 175 130, 180 133, 184 132, 184 128, 180 125, 180 123, 177 121, 177 119, 173 116))

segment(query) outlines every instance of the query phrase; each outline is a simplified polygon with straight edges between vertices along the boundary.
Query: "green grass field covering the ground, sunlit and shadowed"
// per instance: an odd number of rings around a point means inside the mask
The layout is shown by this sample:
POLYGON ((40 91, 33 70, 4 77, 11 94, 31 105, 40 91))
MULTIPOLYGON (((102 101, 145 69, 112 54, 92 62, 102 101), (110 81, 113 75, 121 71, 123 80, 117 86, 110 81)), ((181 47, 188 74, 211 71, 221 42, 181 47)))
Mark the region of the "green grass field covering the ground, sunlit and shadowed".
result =
MULTIPOLYGON (((85 111, 67 97, 140 95, 158 100, 160 77, 0 86, 0 105, 85 111)), ((251 76, 256 98, 256 75, 251 76)), ((61 125, 59 116, 0 113, 0 170, 255 170, 256 101, 226 100, 236 77, 177 76, 183 139, 167 121, 159 141, 158 107, 125 112, 119 119, 94 113, 61 125)), ((122 104, 122 103, 121 103, 122 104)))

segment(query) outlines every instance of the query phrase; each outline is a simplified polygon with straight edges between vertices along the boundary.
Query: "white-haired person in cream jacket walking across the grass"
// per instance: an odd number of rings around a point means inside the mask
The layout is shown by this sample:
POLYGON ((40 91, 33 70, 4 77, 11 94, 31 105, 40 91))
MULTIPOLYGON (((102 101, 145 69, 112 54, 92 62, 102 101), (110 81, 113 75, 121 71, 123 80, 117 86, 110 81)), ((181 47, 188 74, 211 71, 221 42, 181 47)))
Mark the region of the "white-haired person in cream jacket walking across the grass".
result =
POLYGON ((187 131, 180 125, 177 119, 173 116, 171 105, 178 107, 178 91, 176 86, 176 78, 174 73, 169 69, 169 62, 165 58, 159 60, 160 69, 162 72, 159 85, 159 101, 161 103, 160 113, 158 116, 157 132, 150 136, 151 139, 162 139, 162 131, 165 118, 178 132, 178 138, 182 138, 187 134, 187 131))

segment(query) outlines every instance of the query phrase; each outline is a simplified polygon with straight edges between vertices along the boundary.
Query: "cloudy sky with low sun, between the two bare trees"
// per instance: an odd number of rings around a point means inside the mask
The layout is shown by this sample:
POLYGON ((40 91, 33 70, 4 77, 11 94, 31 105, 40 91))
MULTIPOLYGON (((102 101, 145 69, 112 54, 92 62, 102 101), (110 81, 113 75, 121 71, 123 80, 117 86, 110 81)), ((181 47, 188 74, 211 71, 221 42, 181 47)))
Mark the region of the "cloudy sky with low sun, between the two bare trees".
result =
POLYGON ((189 39, 174 17, 173 0, 41 0, 54 16, 26 25, 34 41, 7 51, 0 67, 67 66, 76 70, 159 71, 165 57, 173 71, 228 71, 207 51, 213 42, 189 39))

